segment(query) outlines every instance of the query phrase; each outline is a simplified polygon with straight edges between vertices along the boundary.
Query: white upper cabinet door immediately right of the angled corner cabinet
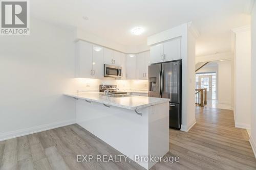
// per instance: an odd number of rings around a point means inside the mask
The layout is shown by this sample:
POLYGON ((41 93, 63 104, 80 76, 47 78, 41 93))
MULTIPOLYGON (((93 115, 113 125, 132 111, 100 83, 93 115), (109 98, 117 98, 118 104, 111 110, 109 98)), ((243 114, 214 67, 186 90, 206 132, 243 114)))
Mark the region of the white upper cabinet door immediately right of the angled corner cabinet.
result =
POLYGON ((145 78, 145 53, 138 53, 136 55, 136 79, 143 80, 145 78))

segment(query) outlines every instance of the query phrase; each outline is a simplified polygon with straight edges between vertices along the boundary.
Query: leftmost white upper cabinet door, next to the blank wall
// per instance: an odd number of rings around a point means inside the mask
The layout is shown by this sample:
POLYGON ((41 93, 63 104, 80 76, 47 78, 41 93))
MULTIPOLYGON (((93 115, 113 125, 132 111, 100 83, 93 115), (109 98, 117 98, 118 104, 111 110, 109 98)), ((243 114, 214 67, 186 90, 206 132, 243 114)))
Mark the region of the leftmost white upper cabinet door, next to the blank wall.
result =
POLYGON ((93 63, 93 45, 86 41, 76 43, 76 78, 91 78, 93 63))

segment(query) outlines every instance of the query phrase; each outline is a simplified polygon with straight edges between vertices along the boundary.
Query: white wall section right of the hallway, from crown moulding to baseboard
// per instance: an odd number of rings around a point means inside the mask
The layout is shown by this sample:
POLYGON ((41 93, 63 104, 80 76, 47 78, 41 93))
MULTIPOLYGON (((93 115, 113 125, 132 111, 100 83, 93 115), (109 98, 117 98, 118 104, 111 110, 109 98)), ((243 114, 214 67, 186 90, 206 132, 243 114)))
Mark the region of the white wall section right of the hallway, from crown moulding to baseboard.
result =
POLYGON ((250 27, 233 29, 236 34, 234 55, 234 117, 239 128, 251 124, 251 39, 250 27))

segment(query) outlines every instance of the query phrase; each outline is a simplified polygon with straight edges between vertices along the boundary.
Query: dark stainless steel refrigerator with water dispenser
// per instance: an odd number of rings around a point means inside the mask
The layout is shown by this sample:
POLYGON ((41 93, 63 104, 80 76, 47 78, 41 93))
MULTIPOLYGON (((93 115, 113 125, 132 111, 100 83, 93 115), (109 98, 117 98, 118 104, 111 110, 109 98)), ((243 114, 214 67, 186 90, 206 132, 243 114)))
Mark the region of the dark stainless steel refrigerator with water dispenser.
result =
POLYGON ((148 96, 170 99, 169 127, 181 128, 181 60, 148 66, 148 96))

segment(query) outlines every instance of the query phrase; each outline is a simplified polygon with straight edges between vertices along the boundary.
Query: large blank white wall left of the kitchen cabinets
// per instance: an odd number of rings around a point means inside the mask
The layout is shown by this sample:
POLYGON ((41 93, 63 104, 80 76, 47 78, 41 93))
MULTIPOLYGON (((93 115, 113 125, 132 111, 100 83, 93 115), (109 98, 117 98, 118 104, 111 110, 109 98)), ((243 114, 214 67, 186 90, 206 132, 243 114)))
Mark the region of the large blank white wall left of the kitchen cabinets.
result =
POLYGON ((31 19, 30 36, 0 46, 0 140, 74 123, 73 33, 31 19))

